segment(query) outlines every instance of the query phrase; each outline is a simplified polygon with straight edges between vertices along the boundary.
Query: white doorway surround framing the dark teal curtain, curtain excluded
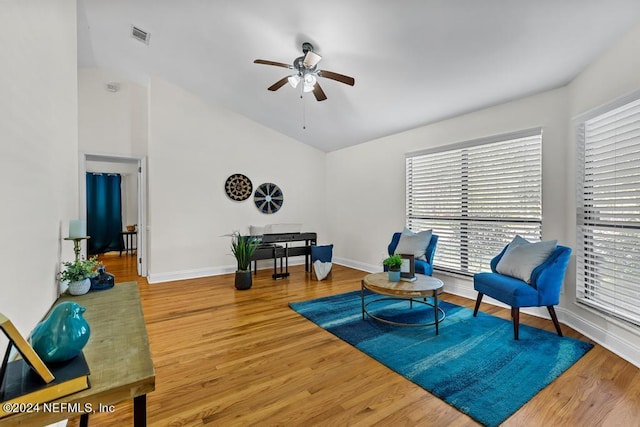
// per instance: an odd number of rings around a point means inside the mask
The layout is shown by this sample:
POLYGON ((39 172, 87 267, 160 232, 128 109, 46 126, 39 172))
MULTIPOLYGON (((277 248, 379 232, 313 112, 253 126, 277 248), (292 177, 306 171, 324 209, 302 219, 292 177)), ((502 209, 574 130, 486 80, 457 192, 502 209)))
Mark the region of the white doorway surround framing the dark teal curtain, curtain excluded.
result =
MULTIPOLYGON (((84 154, 80 162, 80 215, 87 219, 87 185, 86 173, 114 173, 123 177, 123 233, 130 230, 127 225, 135 226, 135 252, 125 252, 124 256, 133 259, 138 276, 147 276, 147 201, 146 201, 146 158, 102 154, 84 154), (135 205, 135 206, 132 206, 135 205), (129 212, 129 214, 127 214, 129 212), (135 212, 135 214, 131 214, 135 212), (127 216, 128 215, 128 216, 127 216), (135 221, 135 222, 134 222, 135 221), (135 255, 132 257, 132 254, 135 255)), ((124 236, 123 237, 131 237, 124 236)), ((129 243, 131 245, 131 243, 129 243)), ((122 254, 122 252, 120 253, 122 254)))

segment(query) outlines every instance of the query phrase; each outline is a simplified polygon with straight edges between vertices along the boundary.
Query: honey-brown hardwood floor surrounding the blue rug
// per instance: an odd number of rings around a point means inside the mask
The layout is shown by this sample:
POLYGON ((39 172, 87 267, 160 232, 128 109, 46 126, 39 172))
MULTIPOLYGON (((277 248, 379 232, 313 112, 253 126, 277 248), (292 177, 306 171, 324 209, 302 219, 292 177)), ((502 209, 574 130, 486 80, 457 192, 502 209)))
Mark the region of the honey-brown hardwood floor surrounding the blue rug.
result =
MULTIPOLYGON (((140 285, 156 369, 149 425, 477 425, 287 305, 357 290, 361 271, 335 265, 330 280, 317 282, 302 266, 278 281, 262 270, 252 289, 237 291, 232 274, 149 285, 136 277, 135 257, 101 258, 116 282, 140 285)), ((481 310, 510 316, 487 304, 481 310)), ((521 322, 554 331, 544 319, 522 314, 521 322)), ((91 425, 131 425, 131 404, 90 418, 91 425)), ((505 425, 638 426, 639 369, 596 345, 505 425)))

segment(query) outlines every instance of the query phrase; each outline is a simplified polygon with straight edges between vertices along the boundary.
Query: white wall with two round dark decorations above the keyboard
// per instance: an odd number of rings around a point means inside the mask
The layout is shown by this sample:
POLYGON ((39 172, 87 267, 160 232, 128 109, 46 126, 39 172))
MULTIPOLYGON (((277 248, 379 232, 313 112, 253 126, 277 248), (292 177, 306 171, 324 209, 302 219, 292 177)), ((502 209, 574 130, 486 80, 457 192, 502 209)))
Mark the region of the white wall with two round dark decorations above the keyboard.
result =
POLYGON ((149 93, 151 282, 235 271, 224 235, 249 225, 303 223, 326 239, 324 153, 161 79, 149 93), (224 183, 234 173, 254 188, 277 184, 280 211, 265 215, 253 198, 229 199, 224 183))

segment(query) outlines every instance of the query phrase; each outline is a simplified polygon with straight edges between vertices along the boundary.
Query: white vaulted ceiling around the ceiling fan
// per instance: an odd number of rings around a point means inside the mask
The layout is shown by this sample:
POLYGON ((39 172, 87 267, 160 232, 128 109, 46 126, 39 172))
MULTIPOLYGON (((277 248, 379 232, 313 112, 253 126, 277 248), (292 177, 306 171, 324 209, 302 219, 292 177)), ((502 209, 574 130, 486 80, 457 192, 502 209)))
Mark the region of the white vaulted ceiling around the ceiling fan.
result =
POLYGON ((162 77, 328 152, 563 86, 639 22, 640 0, 78 0, 78 65, 162 77), (253 60, 305 41, 355 86, 267 91, 289 70, 253 60))

